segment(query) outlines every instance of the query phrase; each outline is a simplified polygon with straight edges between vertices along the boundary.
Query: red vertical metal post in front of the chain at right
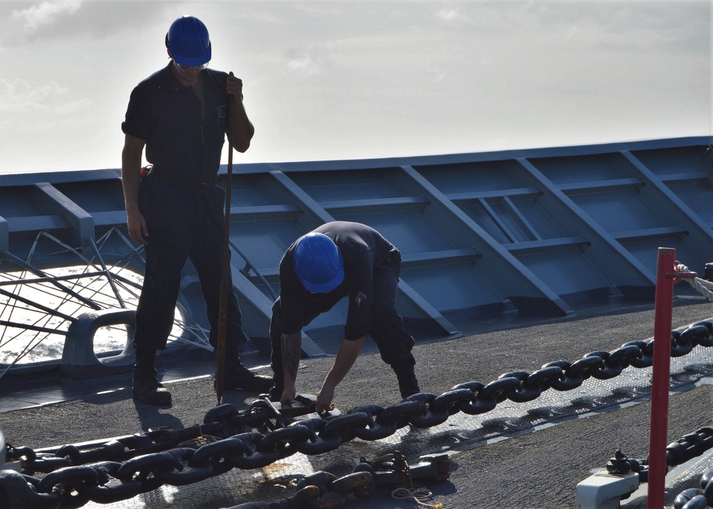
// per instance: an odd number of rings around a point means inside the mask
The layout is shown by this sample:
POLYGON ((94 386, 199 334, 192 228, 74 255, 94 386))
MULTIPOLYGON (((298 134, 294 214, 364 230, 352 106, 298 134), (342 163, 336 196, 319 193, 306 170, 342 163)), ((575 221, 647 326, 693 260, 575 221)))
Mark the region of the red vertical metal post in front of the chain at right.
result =
POLYGON ((673 272, 676 250, 660 247, 656 263, 654 305, 654 364, 651 382, 651 424, 649 436, 649 494, 647 509, 662 509, 666 489, 666 445, 668 394, 671 378, 671 324, 673 312, 673 272))

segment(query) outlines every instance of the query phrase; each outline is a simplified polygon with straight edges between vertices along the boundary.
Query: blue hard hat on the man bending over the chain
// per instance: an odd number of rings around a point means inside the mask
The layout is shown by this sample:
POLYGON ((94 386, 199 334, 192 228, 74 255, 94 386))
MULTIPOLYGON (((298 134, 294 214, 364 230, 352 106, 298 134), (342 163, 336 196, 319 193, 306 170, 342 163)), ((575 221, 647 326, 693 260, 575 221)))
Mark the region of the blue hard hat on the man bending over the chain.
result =
POLYGON ((324 233, 308 233, 294 246, 294 270, 308 292, 326 294, 344 281, 342 253, 324 233))

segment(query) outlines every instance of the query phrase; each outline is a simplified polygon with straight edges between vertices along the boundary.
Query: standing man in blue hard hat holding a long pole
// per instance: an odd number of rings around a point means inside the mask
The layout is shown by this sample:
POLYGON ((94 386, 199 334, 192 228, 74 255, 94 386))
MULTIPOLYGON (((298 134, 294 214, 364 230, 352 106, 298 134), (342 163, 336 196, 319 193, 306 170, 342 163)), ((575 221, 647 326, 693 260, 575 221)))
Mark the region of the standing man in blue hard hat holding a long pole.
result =
MULTIPOLYGON (((146 250, 133 339, 133 397, 150 404, 171 401, 154 363, 156 351, 165 349, 173 328, 180 274, 187 259, 198 273, 210 344, 217 346, 225 222, 225 191, 217 186, 220 154, 226 134, 235 150, 244 153, 255 133, 242 103, 240 78, 207 68, 211 47, 202 21, 193 16, 176 19, 165 43, 168 66, 133 89, 121 124, 128 232, 146 250), (144 147, 153 169, 141 180, 144 147)), ((232 281, 230 276, 228 280, 232 281)), ((270 389, 272 379, 252 373, 240 362, 238 347, 247 336, 232 288, 225 341, 225 388, 270 389)))

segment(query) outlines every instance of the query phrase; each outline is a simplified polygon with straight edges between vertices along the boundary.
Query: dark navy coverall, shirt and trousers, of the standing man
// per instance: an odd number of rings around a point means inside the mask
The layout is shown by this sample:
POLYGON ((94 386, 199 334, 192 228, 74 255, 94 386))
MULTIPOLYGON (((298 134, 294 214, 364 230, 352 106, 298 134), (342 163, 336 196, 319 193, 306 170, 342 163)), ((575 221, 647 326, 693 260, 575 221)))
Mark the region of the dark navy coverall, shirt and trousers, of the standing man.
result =
MULTIPOLYGON (((133 89, 121 124, 125 134, 145 140, 146 158, 153 164, 139 187, 139 208, 149 242, 133 344, 158 350, 165 349, 173 328, 187 259, 198 273, 210 322, 210 344, 217 345, 225 221, 225 190, 216 183, 230 115, 228 75, 202 71, 204 108, 193 89, 180 85, 172 75, 172 64, 133 89)), ((227 351, 237 351, 237 345, 247 341, 232 285, 225 337, 227 351)))

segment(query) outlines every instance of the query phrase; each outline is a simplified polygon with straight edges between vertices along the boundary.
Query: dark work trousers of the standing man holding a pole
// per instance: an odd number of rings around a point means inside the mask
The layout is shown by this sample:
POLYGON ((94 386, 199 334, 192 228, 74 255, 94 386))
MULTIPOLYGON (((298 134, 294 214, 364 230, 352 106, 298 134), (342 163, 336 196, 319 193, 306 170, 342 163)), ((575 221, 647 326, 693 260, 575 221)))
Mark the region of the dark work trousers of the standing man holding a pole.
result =
MULTIPOLYGON (((194 192, 153 176, 141 182, 139 203, 148 228, 148 245, 136 309, 135 347, 165 349, 187 259, 198 274, 210 324, 210 344, 217 346, 224 200, 225 191, 215 185, 194 192)), ((230 274, 227 278, 232 282, 230 274)), ((237 354, 238 345, 247 341, 247 336, 242 331, 240 305, 232 283, 228 286, 226 316, 226 350, 237 354)))

